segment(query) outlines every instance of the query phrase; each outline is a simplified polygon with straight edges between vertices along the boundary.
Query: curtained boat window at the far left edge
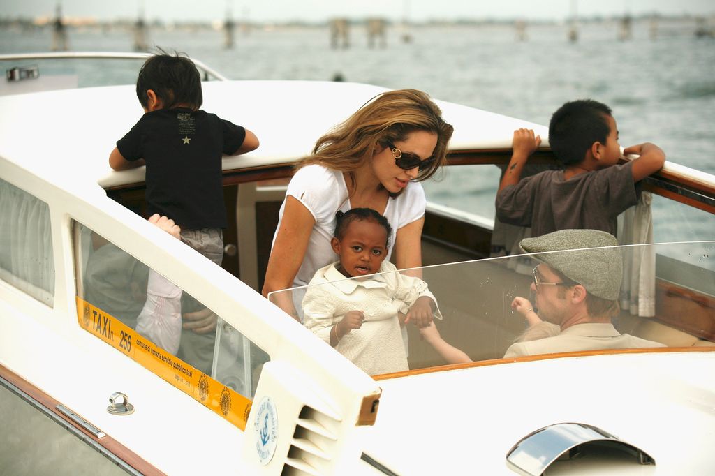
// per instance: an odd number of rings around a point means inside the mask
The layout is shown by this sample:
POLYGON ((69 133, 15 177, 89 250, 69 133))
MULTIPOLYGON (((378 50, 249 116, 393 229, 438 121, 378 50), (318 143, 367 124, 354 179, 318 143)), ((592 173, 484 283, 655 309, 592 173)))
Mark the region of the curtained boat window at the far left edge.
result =
POLYGON ((54 304, 49 207, 0 179, 0 279, 48 306, 54 304))

